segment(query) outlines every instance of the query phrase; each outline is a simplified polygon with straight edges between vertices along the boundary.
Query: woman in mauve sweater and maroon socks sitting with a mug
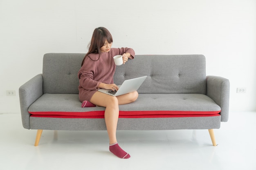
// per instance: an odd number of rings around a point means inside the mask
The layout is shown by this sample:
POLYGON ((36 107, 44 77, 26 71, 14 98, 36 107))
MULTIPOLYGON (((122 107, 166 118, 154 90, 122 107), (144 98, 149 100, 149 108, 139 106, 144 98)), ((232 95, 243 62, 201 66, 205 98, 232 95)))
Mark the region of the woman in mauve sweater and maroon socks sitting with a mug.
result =
POLYGON ((99 27, 94 30, 88 53, 78 73, 79 99, 81 102, 89 101, 94 105, 106 107, 104 116, 109 137, 109 150, 119 158, 128 159, 130 155, 120 148, 116 138, 119 105, 134 102, 138 98, 138 93, 132 92, 114 97, 98 92, 97 89, 118 90, 113 81, 116 68, 113 57, 122 55, 125 64, 128 58, 134 58, 135 52, 132 48, 111 48, 112 42, 112 35, 106 28, 99 27))

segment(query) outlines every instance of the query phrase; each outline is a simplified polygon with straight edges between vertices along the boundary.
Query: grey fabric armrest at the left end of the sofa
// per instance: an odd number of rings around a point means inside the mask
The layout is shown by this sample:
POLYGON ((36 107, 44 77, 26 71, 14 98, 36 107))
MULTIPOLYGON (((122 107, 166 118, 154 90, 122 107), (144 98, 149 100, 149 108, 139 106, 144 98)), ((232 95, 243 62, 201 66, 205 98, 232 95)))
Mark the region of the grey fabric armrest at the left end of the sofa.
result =
POLYGON ((30 129, 29 106, 43 95, 43 76, 38 74, 27 81, 19 88, 20 112, 22 125, 25 129, 30 129))

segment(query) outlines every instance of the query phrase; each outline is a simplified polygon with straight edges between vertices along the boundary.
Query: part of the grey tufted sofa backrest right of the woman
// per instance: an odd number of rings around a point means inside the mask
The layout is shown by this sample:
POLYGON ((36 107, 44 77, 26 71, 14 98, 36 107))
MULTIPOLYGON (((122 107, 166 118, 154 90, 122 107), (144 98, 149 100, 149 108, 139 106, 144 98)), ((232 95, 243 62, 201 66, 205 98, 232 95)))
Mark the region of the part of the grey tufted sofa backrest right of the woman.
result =
POLYGON ((136 55, 114 75, 115 84, 139 76, 148 76, 139 87, 141 94, 206 94, 206 68, 203 55, 136 55))

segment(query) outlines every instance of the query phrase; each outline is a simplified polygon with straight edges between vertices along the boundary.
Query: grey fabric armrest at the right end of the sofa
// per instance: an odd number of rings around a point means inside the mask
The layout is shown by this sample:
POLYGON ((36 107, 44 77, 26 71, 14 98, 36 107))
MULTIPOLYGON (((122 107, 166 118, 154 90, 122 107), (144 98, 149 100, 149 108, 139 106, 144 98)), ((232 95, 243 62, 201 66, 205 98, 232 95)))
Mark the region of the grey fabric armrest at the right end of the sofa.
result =
POLYGON ((229 119, 229 80, 219 76, 207 76, 207 96, 221 108, 221 122, 229 119))

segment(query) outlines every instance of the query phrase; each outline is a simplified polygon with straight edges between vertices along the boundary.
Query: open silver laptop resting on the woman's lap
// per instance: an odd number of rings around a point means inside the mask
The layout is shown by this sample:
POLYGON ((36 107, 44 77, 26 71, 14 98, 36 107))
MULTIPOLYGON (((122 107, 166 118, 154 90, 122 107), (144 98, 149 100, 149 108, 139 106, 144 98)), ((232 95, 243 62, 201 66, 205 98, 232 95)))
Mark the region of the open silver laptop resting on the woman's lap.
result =
POLYGON ((146 78, 147 76, 143 76, 143 77, 125 80, 124 83, 122 83, 122 85, 118 85, 119 89, 117 91, 106 90, 106 89, 99 89, 98 91, 109 94, 111 96, 120 96, 130 92, 135 92, 137 91, 137 89, 139 89, 139 87, 145 81, 146 78))

